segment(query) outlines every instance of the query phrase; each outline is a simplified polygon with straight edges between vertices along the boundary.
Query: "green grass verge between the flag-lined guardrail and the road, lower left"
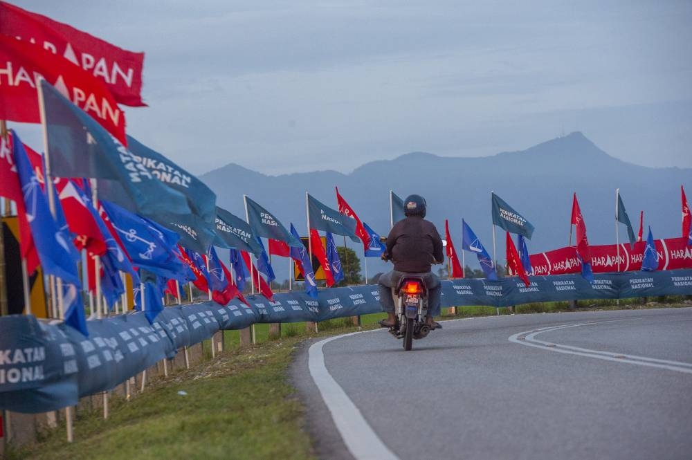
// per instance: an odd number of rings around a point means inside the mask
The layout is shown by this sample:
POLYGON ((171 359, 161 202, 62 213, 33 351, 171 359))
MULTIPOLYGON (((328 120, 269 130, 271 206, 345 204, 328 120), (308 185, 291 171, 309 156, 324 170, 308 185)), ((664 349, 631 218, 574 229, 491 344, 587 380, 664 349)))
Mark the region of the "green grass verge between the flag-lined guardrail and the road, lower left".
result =
POLYGON ((129 402, 111 396, 108 420, 100 410, 78 414, 74 443, 62 425, 10 458, 312 459, 303 410, 286 380, 298 341, 225 351, 129 402))

